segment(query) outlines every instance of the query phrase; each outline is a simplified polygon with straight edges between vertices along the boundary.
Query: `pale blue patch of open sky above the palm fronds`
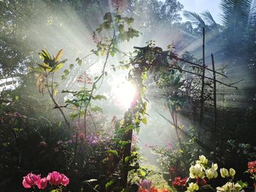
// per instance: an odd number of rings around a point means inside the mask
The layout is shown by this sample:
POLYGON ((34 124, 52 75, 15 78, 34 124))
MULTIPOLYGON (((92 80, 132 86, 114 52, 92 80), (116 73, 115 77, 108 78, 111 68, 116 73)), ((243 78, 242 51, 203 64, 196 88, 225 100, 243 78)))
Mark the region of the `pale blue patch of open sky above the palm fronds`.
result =
MULTIPOLYGON (((201 13, 205 11, 211 12, 211 15, 213 16, 214 20, 217 21, 217 23, 220 23, 219 15, 221 14, 221 10, 219 8, 220 0, 178 0, 181 2, 181 4, 184 5, 184 10, 190 11, 190 12, 196 12, 201 13)), ((182 14, 181 14, 182 15, 182 14)), ((186 20, 184 17, 182 20, 186 20)))

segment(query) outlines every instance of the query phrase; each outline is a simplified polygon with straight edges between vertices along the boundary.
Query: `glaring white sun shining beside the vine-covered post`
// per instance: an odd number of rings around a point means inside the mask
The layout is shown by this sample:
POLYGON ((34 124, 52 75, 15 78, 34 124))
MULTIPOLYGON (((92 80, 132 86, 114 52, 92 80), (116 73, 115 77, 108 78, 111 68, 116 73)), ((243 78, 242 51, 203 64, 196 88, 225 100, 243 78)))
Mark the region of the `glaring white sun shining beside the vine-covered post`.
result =
POLYGON ((131 82, 127 80, 113 82, 112 91, 116 104, 126 109, 131 107, 136 96, 135 86, 131 82))

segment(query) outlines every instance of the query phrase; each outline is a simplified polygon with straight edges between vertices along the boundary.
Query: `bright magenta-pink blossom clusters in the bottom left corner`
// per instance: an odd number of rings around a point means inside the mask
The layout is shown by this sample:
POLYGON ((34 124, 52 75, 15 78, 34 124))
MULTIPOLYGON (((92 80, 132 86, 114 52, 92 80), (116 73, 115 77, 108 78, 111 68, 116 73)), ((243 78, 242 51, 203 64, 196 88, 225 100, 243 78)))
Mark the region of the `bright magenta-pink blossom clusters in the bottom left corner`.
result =
POLYGON ((24 188, 31 188, 37 186, 39 189, 44 189, 47 187, 47 183, 50 185, 58 186, 59 191, 61 191, 61 186, 67 186, 69 184, 69 178, 59 172, 51 172, 47 177, 41 178, 41 174, 32 174, 29 173, 23 177, 23 186, 24 188))

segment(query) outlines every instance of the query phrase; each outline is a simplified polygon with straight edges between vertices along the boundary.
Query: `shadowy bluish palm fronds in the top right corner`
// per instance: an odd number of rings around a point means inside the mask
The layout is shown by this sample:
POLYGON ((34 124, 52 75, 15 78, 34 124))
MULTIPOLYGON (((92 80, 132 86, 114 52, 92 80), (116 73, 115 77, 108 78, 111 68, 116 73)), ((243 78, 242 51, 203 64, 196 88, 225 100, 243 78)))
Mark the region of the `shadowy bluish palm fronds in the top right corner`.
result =
POLYGON ((222 0, 220 6, 222 25, 225 28, 223 37, 230 56, 240 56, 247 48, 251 50, 249 55, 252 55, 256 40, 256 12, 252 9, 252 0, 222 0))

